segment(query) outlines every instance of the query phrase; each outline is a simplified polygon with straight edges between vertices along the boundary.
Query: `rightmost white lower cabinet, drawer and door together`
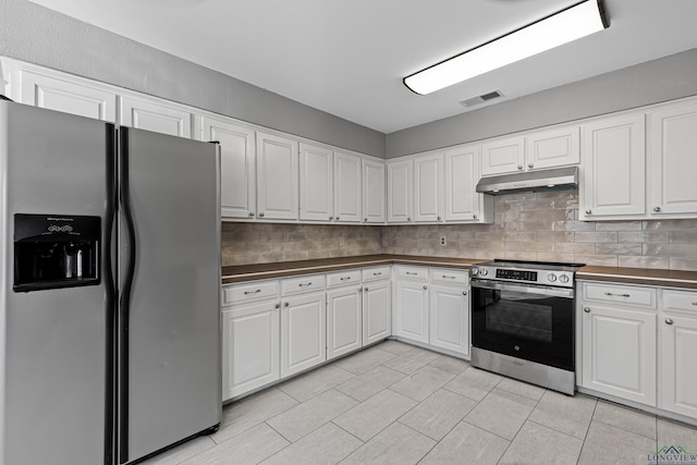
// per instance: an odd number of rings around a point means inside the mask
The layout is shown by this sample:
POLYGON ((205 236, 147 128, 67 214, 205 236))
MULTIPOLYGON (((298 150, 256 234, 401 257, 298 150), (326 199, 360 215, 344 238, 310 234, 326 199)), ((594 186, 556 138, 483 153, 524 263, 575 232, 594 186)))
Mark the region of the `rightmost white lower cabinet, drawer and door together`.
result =
POLYGON ((697 418, 697 292, 662 293, 659 406, 697 418))

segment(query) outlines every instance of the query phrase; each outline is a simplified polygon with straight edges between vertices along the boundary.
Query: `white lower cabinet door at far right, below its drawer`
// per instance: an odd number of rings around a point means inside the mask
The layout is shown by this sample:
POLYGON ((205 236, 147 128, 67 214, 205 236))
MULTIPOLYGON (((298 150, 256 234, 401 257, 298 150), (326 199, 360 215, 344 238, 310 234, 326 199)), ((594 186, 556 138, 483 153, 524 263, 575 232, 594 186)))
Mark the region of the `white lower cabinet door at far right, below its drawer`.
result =
POLYGON ((697 418, 695 354, 697 354, 697 318, 663 316, 660 407, 693 418, 697 418))

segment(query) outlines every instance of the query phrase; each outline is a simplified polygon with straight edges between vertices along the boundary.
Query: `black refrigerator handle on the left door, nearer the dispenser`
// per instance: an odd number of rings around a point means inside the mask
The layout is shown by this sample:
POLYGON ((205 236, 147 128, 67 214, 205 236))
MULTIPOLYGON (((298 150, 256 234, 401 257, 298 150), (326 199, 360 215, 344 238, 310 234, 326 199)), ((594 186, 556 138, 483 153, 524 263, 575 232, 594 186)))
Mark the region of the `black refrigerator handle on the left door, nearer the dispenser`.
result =
POLYGON ((103 257, 102 272, 105 277, 106 290, 106 413, 105 413, 105 464, 113 463, 113 444, 114 444, 114 402, 115 392, 113 390, 113 380, 115 378, 114 366, 114 327, 117 323, 117 285, 114 282, 114 266, 112 260, 113 253, 113 231, 117 219, 117 129, 113 124, 108 123, 107 129, 107 179, 106 179, 106 198, 107 211, 105 213, 103 224, 103 244, 101 245, 103 257))

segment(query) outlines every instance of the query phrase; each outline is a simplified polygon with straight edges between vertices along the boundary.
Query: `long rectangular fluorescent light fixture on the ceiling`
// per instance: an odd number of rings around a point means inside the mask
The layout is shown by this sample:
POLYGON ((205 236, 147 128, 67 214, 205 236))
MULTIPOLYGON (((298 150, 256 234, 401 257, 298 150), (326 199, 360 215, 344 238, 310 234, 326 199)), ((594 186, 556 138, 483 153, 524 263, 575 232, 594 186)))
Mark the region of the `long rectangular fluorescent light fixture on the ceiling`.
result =
POLYGON ((608 27, 601 0, 586 0, 404 78, 426 95, 608 27))

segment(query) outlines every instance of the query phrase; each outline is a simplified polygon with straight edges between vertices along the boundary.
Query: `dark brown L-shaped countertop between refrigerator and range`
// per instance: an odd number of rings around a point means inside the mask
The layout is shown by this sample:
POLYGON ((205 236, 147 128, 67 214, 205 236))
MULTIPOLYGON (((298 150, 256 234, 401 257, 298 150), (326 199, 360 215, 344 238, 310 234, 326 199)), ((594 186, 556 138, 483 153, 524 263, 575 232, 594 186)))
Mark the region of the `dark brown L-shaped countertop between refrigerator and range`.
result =
POLYGON ((257 279, 283 278, 293 274, 326 273, 351 268, 378 265, 420 265, 445 268, 469 268, 486 260, 472 258, 421 257, 416 255, 359 255, 318 260, 283 261, 274 264, 222 267, 222 283, 232 284, 257 279))

